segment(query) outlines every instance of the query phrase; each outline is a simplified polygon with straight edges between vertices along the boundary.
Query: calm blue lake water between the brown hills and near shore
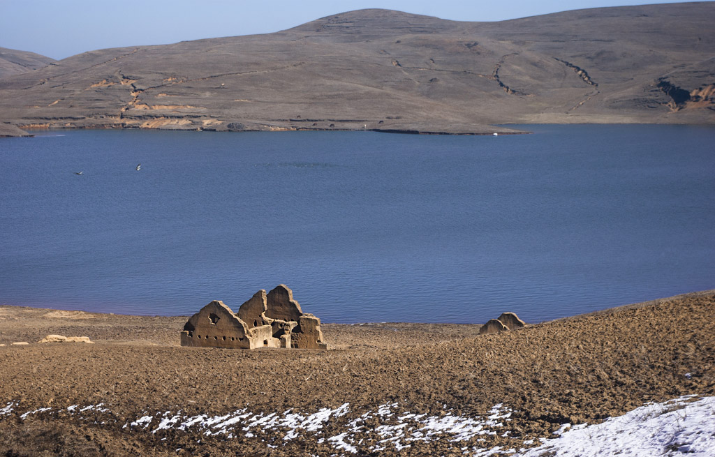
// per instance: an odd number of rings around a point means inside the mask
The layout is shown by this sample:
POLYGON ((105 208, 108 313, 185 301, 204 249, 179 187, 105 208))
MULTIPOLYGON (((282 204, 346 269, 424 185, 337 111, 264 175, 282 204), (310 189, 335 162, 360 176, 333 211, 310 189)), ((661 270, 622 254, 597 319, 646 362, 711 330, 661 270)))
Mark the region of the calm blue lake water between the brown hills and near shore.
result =
POLYGON ((536 322, 715 288, 715 128, 526 128, 0 139, 0 303, 177 315, 286 283, 325 322, 536 322))

